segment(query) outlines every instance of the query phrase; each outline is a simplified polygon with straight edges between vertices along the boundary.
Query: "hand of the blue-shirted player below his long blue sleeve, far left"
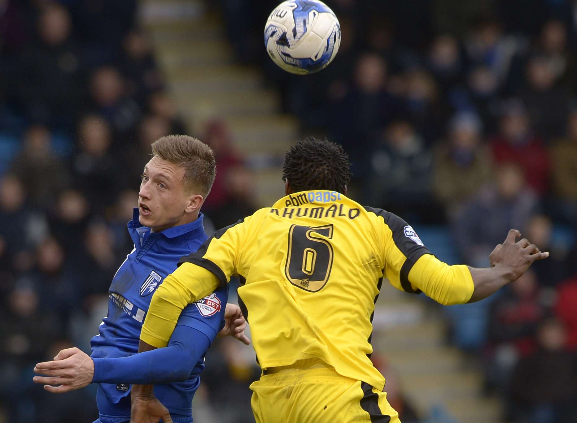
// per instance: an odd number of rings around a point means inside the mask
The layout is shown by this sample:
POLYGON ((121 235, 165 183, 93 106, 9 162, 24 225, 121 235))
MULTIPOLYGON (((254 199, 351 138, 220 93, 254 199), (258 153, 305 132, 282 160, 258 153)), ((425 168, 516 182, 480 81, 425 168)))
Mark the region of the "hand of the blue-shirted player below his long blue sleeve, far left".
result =
POLYGON ((46 376, 34 376, 35 383, 44 383, 44 389, 54 394, 74 391, 92 383, 94 362, 88 354, 78 348, 61 350, 54 361, 36 364, 34 373, 46 376), (56 386, 53 386, 56 385, 56 386))

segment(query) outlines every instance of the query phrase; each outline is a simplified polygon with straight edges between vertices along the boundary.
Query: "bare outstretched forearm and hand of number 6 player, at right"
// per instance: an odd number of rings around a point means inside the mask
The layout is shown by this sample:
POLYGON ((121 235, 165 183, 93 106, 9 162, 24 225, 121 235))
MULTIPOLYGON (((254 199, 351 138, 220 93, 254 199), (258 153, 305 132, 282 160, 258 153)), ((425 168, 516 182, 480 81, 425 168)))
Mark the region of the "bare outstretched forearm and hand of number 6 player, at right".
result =
POLYGON ((518 280, 533 262, 549 257, 549 252, 539 251, 539 248, 526 238, 515 242, 519 236, 521 233, 517 229, 511 229, 504 243, 495 247, 489 255, 493 267, 469 267, 475 286, 469 303, 492 295, 504 285, 518 280))

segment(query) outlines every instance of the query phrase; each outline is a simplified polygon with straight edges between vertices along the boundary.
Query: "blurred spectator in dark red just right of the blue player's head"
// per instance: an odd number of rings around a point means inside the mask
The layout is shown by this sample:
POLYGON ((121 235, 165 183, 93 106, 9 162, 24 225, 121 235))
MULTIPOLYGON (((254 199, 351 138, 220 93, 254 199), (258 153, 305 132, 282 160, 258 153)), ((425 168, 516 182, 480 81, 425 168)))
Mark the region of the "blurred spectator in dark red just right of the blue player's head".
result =
MULTIPOLYGON (((226 207, 228 172, 242 163, 242 158, 234 150, 230 128, 219 120, 209 122, 204 131, 202 141, 215 153, 216 178, 212 184, 210 195, 204 202, 204 211, 211 217, 213 212, 226 207)), ((231 222, 232 223, 232 222, 231 222)), ((216 228, 220 226, 216 225, 216 228)))

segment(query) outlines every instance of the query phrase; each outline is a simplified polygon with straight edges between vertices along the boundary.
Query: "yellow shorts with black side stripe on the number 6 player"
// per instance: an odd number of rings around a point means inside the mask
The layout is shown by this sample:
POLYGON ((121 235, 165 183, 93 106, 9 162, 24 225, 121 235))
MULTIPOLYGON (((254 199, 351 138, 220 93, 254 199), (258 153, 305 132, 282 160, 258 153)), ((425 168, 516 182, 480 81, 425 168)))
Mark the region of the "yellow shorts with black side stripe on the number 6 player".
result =
POLYGON ((321 361, 265 371, 250 389, 256 423, 400 423, 386 392, 321 361))

